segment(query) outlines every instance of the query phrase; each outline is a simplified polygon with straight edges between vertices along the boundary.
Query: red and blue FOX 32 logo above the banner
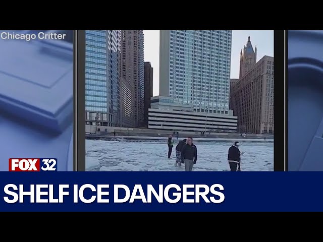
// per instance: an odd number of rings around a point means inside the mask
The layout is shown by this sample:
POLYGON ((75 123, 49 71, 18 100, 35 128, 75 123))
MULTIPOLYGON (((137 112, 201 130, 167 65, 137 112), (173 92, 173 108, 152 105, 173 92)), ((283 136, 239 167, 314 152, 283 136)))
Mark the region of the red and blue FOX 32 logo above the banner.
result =
POLYGON ((11 158, 9 171, 57 171, 56 158, 11 158))

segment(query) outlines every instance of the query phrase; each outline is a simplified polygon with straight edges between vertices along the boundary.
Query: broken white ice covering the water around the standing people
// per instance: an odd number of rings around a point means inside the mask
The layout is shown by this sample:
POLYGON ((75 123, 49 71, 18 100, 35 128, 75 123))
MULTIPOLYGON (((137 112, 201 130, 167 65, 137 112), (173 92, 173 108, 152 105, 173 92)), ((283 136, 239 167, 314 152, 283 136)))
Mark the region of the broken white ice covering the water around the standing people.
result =
MULTIPOLYGON (((94 171, 184 171, 176 167, 175 141, 168 159, 166 143, 86 140, 86 170, 94 171)), ((199 141, 193 171, 228 171, 228 149, 232 142, 199 141)), ((242 171, 273 171, 274 143, 241 142, 242 171)))

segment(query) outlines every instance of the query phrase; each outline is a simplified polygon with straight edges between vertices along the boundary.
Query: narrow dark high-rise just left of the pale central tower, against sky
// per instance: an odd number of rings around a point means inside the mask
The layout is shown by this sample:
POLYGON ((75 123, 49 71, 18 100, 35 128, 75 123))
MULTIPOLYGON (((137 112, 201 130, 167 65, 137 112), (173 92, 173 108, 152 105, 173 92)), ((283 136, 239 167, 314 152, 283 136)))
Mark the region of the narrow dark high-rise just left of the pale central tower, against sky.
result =
POLYGON ((152 80, 153 80, 153 68, 150 62, 144 64, 144 125, 148 127, 148 110, 150 108, 150 98, 152 97, 152 80))

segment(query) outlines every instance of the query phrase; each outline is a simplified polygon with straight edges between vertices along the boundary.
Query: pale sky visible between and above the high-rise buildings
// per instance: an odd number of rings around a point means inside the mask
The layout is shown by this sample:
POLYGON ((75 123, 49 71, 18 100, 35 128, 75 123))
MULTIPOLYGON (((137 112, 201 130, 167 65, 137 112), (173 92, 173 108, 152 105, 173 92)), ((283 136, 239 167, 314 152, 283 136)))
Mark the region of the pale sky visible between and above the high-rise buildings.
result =
MULTIPOLYGON (((144 61, 153 68, 153 96, 159 94, 159 30, 144 30, 144 61)), ((231 78, 239 78, 240 50, 250 36, 257 46, 257 61, 264 55, 274 56, 274 30, 233 30, 231 47, 231 78)))

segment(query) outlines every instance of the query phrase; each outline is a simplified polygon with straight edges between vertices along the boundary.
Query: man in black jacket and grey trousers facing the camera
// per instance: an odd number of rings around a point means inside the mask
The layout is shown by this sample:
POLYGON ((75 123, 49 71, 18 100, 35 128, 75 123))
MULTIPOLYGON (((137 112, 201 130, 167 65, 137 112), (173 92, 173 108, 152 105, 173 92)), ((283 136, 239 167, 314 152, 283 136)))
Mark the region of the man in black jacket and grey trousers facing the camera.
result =
POLYGON ((197 148, 193 144, 193 138, 187 138, 187 144, 184 145, 181 152, 181 161, 185 164, 185 171, 192 171, 197 161, 197 148))

